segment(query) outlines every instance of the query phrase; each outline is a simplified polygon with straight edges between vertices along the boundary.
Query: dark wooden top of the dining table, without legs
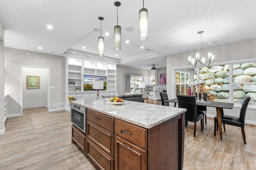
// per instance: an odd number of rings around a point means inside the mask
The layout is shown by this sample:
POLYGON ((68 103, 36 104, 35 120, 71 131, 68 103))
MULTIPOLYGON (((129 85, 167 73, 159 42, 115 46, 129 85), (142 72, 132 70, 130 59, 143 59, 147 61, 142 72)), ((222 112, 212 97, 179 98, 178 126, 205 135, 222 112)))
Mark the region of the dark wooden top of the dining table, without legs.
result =
MULTIPOLYGON (((171 99, 171 100, 166 100, 166 102, 173 102, 173 103, 178 103, 178 99, 171 99)), ((234 103, 226 103, 226 102, 196 102, 196 105, 198 106, 209 106, 209 107, 220 107, 220 108, 226 108, 226 109, 232 109, 234 106, 234 103)))

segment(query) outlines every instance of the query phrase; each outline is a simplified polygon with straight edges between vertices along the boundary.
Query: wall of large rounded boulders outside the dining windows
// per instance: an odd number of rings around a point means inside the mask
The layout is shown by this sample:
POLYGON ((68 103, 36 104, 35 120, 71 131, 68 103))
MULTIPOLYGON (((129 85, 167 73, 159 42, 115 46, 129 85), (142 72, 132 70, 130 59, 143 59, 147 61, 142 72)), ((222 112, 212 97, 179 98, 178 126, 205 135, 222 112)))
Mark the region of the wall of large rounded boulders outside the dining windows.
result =
MULTIPOLYGON (((256 63, 233 64, 234 100, 244 99, 250 96, 251 101, 256 102, 256 63), (255 82, 255 84, 243 84, 243 82, 255 82)), ((196 69, 194 70, 196 79, 196 69)), ((217 99, 229 98, 229 65, 220 65, 200 68, 200 79, 205 80, 205 89, 214 94, 217 99)), ((195 80, 196 81, 196 80, 195 80)), ((235 102, 234 101, 234 102, 235 102)))

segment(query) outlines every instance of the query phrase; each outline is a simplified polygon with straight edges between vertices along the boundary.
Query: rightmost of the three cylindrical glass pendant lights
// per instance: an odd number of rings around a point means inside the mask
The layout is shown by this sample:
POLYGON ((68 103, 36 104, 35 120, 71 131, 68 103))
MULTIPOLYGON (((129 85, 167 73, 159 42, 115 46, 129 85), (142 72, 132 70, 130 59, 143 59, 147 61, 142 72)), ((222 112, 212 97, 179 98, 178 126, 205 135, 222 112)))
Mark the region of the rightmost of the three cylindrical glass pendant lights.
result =
POLYGON ((148 10, 144 8, 144 0, 143 8, 140 9, 139 12, 139 33, 140 41, 145 41, 148 39, 148 10))

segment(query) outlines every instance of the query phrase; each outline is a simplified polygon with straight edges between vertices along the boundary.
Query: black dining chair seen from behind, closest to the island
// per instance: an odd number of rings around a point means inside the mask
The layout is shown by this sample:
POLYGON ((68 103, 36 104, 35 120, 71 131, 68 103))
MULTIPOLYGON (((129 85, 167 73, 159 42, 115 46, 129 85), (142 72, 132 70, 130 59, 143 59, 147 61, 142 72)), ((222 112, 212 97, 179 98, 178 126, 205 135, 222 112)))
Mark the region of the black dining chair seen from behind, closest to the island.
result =
POLYGON ((196 98, 195 96, 177 95, 178 106, 180 108, 187 109, 185 112, 185 126, 187 122, 194 122, 194 137, 196 137, 196 122, 201 121, 201 131, 203 131, 203 119, 204 115, 198 113, 196 110, 196 98))

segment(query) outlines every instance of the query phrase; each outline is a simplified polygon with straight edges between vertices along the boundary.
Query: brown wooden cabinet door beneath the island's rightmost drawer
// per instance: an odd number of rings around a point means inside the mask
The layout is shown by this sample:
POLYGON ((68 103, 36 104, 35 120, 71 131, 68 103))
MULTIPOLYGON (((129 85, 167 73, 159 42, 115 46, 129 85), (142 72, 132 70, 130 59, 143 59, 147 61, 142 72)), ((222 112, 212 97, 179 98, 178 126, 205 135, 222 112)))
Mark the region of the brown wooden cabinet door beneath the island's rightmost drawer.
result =
POLYGON ((115 135, 115 170, 128 169, 146 170, 147 151, 115 135))

